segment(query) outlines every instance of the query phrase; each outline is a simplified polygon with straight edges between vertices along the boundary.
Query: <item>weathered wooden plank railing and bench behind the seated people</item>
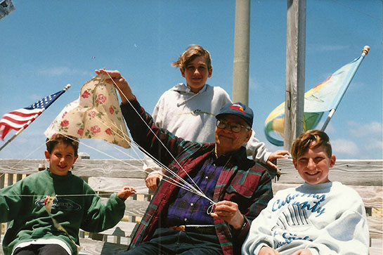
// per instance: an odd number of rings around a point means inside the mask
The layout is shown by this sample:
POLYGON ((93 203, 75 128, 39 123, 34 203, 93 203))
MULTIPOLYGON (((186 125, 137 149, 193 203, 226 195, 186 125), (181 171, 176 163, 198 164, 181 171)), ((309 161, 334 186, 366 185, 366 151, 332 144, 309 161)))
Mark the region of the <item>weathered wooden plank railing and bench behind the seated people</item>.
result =
MULTIPOLYGON (((42 162, 43 159, 0 159, 0 188, 37 172, 37 167, 42 162)), ((145 187, 145 174, 141 168, 142 163, 139 160, 79 159, 74 164, 73 173, 82 177, 100 195, 105 192, 117 192, 123 185, 138 187, 138 195, 126 200, 126 216, 115 228, 100 234, 80 233, 80 254, 116 254, 117 251, 127 248, 131 235, 150 201, 150 192, 145 187)), ((280 178, 273 181, 274 192, 303 183, 290 159, 278 160, 278 169, 280 178)), ((382 254, 383 238, 382 174, 382 160, 342 159, 337 159, 329 174, 330 181, 350 185, 361 195, 368 214, 370 254, 379 255, 382 254)))

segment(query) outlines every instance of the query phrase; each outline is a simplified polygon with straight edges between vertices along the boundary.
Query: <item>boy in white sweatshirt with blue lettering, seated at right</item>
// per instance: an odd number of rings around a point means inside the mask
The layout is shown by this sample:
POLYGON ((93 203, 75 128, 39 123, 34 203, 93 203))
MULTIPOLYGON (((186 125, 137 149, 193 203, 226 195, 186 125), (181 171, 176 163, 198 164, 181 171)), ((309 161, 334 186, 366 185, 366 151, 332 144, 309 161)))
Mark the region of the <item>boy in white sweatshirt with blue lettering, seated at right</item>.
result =
POLYGON ((361 197, 328 179, 336 158, 327 134, 302 133, 291 154, 304 184, 275 194, 252 221, 242 254, 368 254, 368 224, 361 197))

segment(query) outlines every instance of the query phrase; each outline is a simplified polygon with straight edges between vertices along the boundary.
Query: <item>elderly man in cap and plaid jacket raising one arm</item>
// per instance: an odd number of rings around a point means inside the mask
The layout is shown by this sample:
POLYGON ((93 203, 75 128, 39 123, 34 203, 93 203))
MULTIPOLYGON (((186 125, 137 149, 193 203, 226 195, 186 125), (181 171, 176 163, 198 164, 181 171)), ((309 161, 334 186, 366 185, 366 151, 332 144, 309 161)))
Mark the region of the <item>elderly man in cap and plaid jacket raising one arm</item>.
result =
POLYGON ((178 177, 165 176, 130 250, 122 254, 240 254, 249 223, 273 197, 271 176, 242 147, 252 133, 252 110, 241 103, 223 105, 216 115, 216 143, 192 143, 158 129, 118 71, 96 70, 107 72, 136 143, 214 201, 209 214, 210 200, 169 181, 178 177))

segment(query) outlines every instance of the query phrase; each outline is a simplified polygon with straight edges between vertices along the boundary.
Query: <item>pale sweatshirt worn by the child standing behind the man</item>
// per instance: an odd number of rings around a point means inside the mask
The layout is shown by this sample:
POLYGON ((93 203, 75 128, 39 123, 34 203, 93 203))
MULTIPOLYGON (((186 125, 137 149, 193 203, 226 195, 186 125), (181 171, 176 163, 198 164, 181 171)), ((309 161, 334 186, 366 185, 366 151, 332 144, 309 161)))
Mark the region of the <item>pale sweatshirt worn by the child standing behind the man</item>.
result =
MULTIPOLYGON (((165 91, 155 105, 152 117, 155 124, 177 137, 193 142, 214 143, 214 130, 219 109, 231 103, 228 93, 219 86, 205 86, 193 93, 185 84, 177 84, 165 91)), ((265 143, 259 142, 252 133, 246 145, 247 155, 254 161, 266 163, 271 152, 265 143)), ((143 169, 146 173, 161 171, 161 167, 149 157, 145 157, 143 169)))

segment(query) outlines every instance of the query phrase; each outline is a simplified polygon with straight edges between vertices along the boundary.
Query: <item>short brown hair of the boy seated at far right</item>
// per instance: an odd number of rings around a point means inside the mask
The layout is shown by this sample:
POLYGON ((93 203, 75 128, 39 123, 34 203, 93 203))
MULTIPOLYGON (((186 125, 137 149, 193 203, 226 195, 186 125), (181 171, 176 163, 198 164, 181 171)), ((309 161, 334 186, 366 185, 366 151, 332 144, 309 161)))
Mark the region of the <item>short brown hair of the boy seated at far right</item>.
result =
POLYGON ((328 157, 332 156, 332 148, 330 144, 330 138, 327 134, 320 130, 309 130, 294 140, 291 148, 291 155, 293 159, 297 159, 304 155, 304 153, 309 150, 309 148, 318 148, 320 146, 325 146, 325 152, 328 157))

